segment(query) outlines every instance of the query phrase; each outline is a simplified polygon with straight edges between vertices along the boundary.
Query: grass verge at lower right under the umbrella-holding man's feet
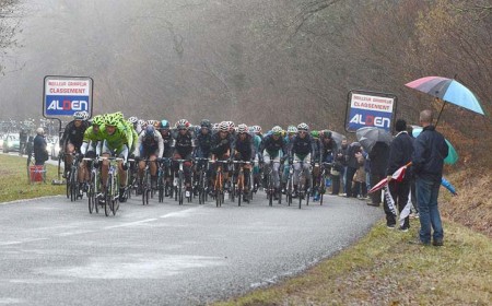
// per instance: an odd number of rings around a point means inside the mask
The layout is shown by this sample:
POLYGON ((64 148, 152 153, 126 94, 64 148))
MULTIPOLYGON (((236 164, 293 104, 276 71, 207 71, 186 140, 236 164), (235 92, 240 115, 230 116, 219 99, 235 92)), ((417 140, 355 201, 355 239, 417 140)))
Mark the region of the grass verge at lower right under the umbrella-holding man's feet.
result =
POLYGON ((282 284, 215 305, 490 305, 492 239, 445 221, 443 247, 377 224, 343 252, 282 284))

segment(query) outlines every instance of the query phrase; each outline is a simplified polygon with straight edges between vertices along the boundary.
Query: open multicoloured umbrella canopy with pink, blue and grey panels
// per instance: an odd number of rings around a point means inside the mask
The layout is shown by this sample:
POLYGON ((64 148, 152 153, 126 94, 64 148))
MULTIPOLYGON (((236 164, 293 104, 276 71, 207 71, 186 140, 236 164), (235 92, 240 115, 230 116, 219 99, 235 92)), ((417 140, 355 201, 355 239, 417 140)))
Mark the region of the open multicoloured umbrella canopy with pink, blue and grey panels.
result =
POLYGON ((454 79, 425 76, 405 84, 407 87, 438 97, 445 102, 484 115, 477 96, 454 79))

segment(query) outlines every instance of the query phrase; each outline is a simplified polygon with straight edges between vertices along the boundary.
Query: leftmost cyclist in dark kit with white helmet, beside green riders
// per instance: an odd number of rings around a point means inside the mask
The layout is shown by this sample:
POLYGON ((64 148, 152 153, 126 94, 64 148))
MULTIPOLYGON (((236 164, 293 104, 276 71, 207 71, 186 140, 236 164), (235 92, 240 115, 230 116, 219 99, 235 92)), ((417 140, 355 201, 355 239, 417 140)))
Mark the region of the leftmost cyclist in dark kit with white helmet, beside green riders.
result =
POLYGON ((63 136, 60 139, 60 148, 66 153, 65 155, 65 174, 63 177, 68 177, 70 165, 73 162, 74 153, 80 153, 80 148, 84 139, 84 132, 89 128, 86 121, 89 114, 86 111, 75 111, 73 114, 73 120, 70 121, 63 130, 63 136))

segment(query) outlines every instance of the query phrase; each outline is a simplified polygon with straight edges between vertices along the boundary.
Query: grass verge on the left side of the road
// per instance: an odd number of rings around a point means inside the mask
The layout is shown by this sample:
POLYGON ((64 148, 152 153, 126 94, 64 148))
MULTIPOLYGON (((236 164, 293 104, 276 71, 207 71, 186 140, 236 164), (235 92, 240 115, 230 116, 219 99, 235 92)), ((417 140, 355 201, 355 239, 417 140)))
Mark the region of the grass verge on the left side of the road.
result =
POLYGON ((46 184, 30 184, 26 158, 0 154, 0 203, 44 196, 63 195, 65 186, 51 185, 57 167, 47 165, 46 184))

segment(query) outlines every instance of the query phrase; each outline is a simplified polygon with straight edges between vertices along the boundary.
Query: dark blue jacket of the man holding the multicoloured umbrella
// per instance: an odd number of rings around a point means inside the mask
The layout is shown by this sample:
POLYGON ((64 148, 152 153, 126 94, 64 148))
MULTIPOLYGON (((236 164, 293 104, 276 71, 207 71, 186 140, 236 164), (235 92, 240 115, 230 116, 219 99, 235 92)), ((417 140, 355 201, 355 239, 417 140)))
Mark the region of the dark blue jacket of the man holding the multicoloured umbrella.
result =
POLYGON ((441 181, 449 148, 434 126, 423 128, 413 143, 412 166, 417 178, 441 181))

